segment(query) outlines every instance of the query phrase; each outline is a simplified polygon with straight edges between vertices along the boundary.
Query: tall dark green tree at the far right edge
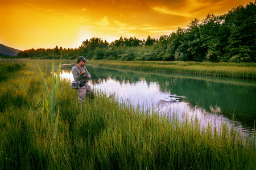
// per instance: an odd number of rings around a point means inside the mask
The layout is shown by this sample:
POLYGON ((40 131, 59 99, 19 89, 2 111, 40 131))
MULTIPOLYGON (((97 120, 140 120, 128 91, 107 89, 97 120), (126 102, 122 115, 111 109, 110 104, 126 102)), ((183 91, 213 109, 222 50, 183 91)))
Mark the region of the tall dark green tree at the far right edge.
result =
POLYGON ((233 8, 226 15, 229 28, 227 53, 231 62, 255 62, 256 50, 256 1, 233 8))

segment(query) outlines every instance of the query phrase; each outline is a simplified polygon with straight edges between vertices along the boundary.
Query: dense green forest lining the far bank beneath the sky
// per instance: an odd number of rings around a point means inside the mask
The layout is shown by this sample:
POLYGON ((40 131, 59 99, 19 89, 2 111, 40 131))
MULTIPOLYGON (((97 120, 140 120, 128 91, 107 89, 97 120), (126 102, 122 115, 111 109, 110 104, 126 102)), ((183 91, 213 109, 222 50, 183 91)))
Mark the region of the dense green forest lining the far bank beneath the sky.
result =
POLYGON ((18 53, 20 58, 102 59, 128 50, 109 59, 147 61, 211 61, 256 62, 256 1, 238 6, 228 14, 208 14, 194 19, 187 28, 178 28, 159 39, 139 40, 120 37, 111 43, 92 37, 79 48, 29 49, 18 53))

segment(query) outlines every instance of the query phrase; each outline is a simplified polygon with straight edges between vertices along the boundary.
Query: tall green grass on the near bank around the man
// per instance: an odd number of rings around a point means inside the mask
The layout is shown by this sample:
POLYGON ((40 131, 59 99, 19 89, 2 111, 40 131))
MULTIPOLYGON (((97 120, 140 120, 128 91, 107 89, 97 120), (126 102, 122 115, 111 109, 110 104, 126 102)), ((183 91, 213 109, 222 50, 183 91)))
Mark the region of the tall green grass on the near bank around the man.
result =
MULTIPOLYGON (((0 82, 0 169, 256 167, 255 138, 241 138, 225 124, 219 134, 207 128, 200 132, 189 121, 141 113, 104 92, 81 105, 76 90, 65 81, 60 82, 56 100, 60 120, 53 152, 49 103, 36 61, 2 62, 20 69, 6 71, 0 82)), ((52 61, 38 62, 51 90, 52 61)))

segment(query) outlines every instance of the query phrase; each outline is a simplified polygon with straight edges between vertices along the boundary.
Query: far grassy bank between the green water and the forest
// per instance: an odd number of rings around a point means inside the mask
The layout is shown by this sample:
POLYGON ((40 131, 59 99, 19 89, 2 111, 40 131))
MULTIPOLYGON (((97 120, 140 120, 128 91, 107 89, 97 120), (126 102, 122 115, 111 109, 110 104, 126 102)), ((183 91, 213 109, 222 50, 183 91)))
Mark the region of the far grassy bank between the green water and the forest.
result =
MULTIPOLYGON (((89 61, 88 63, 96 63, 89 61)), ((193 75, 225 76, 242 79, 256 79, 256 63, 213 63, 183 61, 113 61, 105 60, 100 66, 151 70, 159 72, 193 75)))

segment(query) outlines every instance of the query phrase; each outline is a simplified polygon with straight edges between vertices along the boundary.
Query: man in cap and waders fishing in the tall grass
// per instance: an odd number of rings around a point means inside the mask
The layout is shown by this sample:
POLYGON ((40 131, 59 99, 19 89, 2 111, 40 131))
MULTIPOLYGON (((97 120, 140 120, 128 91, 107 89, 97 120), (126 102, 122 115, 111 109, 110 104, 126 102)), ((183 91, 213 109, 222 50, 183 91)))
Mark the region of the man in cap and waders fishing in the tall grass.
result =
POLYGON ((75 81, 80 81, 80 88, 77 89, 77 94, 79 100, 84 103, 86 95, 93 99, 94 93, 92 89, 90 88, 88 82, 88 78, 91 78, 90 73, 86 69, 85 62, 88 61, 88 59, 85 59, 83 56, 80 56, 77 58, 77 65, 72 67, 72 74, 75 81))

